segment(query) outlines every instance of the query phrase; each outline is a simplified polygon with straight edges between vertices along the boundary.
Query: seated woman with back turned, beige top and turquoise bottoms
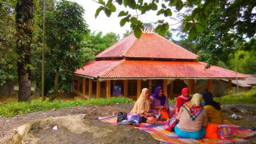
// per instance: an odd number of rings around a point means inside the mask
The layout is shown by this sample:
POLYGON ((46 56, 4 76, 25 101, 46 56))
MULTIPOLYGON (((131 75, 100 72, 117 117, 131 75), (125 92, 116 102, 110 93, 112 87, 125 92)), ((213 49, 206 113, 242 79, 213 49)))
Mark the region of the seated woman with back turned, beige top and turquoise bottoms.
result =
POLYGON ((191 101, 181 106, 177 119, 178 125, 174 127, 177 135, 183 138, 202 138, 206 131, 207 114, 202 107, 202 95, 194 94, 191 101))

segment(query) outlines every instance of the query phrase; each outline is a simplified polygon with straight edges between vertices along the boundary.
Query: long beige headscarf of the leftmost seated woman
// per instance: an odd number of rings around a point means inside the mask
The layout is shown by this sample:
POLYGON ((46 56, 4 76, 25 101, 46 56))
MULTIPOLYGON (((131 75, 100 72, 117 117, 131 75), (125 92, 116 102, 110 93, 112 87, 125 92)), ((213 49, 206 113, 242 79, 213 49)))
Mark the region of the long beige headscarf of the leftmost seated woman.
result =
POLYGON ((147 88, 142 89, 141 95, 135 102, 133 106, 133 110, 131 110, 131 114, 143 114, 144 112, 150 112, 150 98, 146 98, 146 91, 149 90, 147 88))

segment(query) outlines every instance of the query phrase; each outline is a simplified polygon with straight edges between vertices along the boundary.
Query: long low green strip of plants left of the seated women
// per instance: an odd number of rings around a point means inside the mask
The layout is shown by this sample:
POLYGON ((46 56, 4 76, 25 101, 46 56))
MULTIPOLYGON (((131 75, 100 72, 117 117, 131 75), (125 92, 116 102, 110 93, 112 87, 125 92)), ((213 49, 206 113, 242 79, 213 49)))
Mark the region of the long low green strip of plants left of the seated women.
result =
POLYGON ((50 109, 61 109, 62 107, 74 107, 85 105, 110 105, 115 103, 131 103, 132 99, 125 97, 113 97, 110 99, 89 99, 87 101, 42 101, 41 99, 35 99, 31 102, 12 102, 6 105, 0 106, 0 115, 3 117, 13 117, 18 114, 26 114, 35 111, 45 111, 50 109))

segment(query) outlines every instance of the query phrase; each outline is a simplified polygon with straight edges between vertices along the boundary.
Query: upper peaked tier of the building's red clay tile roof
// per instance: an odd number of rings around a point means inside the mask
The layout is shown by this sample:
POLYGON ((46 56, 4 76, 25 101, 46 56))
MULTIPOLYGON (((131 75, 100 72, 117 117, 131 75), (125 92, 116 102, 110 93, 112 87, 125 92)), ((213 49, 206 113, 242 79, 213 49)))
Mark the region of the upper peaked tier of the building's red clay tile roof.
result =
POLYGON ((111 57, 195 60, 197 55, 158 34, 142 33, 141 38, 137 39, 132 33, 95 56, 98 59, 111 57))

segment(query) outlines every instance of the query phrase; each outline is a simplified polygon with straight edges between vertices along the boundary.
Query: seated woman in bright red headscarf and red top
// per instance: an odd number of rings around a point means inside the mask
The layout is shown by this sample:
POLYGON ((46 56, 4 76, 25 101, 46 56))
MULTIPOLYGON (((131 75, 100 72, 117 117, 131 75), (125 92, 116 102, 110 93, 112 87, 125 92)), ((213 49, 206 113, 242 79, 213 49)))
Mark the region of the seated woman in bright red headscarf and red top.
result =
POLYGON ((179 96, 176 99, 176 109, 175 109, 175 114, 178 115, 179 113, 179 109, 181 108, 181 106, 186 103, 189 102, 191 100, 191 97, 189 95, 189 89, 187 87, 184 87, 181 90, 181 96, 179 96))

